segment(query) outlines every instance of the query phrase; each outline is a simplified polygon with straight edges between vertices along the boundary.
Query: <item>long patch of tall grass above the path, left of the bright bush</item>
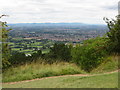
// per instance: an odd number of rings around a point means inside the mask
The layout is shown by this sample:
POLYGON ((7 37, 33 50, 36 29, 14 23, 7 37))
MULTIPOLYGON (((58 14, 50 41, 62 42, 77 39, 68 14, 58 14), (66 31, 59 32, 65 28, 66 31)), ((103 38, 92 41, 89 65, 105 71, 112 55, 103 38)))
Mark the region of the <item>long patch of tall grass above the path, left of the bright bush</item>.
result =
POLYGON ((42 77, 80 73, 84 72, 80 69, 80 67, 72 63, 60 62, 50 65, 40 62, 34 62, 31 64, 9 68, 3 73, 3 82, 14 82, 42 77))

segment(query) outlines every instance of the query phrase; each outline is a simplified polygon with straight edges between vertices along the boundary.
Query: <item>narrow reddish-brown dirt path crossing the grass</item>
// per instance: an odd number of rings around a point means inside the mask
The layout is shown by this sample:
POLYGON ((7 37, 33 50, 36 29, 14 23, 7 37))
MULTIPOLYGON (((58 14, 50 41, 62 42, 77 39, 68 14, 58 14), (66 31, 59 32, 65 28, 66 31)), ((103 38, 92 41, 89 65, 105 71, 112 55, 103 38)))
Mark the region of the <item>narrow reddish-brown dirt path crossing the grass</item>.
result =
POLYGON ((52 76, 52 77, 36 78, 32 80, 24 80, 24 81, 18 81, 18 82, 8 82, 8 83, 2 83, 2 84, 16 84, 16 83, 35 81, 35 80, 43 80, 43 79, 48 79, 48 78, 67 77, 67 76, 97 76, 97 75, 111 74, 111 73, 118 72, 118 71, 119 70, 112 71, 112 72, 106 72, 102 74, 74 74, 74 75, 52 76))

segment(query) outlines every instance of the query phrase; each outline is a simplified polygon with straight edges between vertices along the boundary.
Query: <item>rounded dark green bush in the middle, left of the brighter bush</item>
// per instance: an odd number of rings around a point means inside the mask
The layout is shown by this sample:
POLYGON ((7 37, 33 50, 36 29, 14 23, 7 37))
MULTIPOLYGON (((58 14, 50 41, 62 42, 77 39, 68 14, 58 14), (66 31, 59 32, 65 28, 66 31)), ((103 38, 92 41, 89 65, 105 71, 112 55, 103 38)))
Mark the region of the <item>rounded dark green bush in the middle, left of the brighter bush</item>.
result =
POLYGON ((57 60, 70 61, 71 48, 62 43, 55 43, 53 47, 50 48, 50 52, 48 53, 47 57, 57 60))

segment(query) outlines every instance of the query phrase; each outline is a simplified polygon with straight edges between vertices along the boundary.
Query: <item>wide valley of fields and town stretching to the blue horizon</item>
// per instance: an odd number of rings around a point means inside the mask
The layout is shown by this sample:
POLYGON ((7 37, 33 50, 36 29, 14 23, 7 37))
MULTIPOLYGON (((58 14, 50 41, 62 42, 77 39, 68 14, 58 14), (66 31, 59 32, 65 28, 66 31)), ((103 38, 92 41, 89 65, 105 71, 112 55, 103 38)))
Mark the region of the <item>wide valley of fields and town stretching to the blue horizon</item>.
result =
POLYGON ((83 43, 84 40, 102 36, 107 31, 105 25, 82 23, 25 23, 10 24, 9 46, 12 51, 35 53, 49 52, 54 43, 83 43), (94 27, 93 27, 94 26, 94 27))

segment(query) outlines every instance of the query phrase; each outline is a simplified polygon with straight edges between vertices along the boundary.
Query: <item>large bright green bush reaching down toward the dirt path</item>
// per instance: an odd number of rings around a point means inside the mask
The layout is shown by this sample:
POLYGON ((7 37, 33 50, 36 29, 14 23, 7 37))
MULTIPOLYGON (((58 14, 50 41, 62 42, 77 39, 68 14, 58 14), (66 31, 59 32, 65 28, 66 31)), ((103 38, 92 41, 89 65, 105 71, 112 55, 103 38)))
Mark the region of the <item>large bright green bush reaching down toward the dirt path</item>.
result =
POLYGON ((72 49, 73 62, 79 64, 83 70, 90 72, 101 64, 103 57, 107 55, 105 43, 105 38, 96 38, 86 40, 82 46, 76 45, 72 49))

